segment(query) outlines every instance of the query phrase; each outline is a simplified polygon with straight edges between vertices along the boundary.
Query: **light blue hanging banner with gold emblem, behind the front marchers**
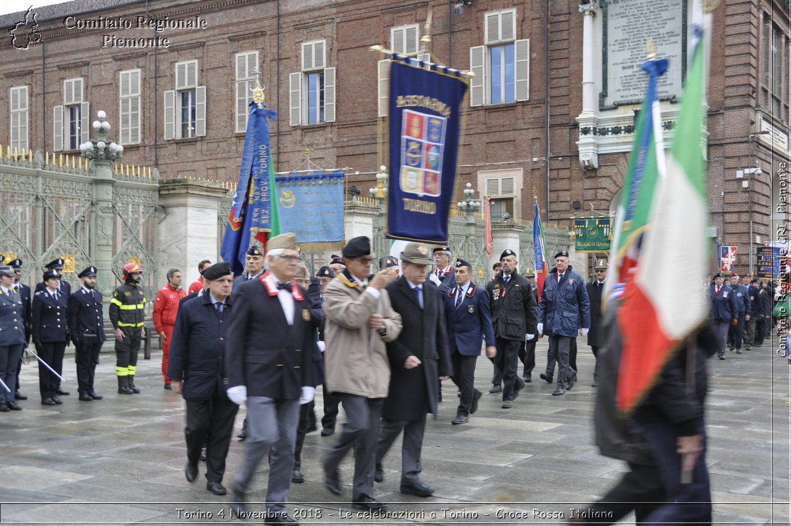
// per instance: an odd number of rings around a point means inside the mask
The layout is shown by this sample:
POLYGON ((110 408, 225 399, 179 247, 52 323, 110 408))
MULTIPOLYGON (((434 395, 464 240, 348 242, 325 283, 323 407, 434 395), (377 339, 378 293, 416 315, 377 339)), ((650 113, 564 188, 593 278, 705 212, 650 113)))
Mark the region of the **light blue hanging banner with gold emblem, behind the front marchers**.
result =
POLYGON ((313 170, 274 178, 280 227, 297 234, 300 250, 343 248, 343 170, 313 170))

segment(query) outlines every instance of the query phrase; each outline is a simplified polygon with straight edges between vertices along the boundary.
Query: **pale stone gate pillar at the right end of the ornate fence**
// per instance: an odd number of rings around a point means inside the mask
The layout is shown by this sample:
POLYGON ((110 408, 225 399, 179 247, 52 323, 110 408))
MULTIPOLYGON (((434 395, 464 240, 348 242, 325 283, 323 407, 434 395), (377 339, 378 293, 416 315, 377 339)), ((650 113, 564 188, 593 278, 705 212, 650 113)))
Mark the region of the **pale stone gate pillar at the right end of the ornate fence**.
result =
POLYGON ((180 269, 182 287, 198 279, 198 263, 219 260, 218 202, 227 190, 202 185, 189 179, 165 179, 160 182, 159 254, 157 284, 165 284, 168 269, 180 269))

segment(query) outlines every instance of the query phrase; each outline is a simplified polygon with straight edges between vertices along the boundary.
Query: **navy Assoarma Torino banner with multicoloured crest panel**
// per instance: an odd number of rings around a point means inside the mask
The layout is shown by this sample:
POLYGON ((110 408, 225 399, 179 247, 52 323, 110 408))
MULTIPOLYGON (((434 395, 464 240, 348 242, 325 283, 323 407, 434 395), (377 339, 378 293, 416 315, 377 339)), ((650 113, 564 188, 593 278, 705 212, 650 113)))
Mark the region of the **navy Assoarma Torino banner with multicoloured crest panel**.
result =
POLYGON ((460 76, 390 63, 386 237, 448 243, 466 93, 460 76))

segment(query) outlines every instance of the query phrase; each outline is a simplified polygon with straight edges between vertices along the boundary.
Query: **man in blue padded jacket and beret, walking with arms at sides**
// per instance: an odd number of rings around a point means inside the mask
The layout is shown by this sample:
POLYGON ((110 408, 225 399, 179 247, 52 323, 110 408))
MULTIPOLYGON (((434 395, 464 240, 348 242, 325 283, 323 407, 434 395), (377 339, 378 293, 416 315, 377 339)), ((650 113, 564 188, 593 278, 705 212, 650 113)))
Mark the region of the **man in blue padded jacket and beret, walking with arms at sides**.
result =
POLYGON ((590 329, 590 301, 585 278, 569 264, 569 253, 561 250, 554 255, 554 269, 544 280, 539 302, 539 335, 549 337, 547 372, 541 378, 552 382, 555 361, 558 363, 557 388, 554 396, 573 387, 577 372, 569 364, 571 342, 588 335, 590 329))

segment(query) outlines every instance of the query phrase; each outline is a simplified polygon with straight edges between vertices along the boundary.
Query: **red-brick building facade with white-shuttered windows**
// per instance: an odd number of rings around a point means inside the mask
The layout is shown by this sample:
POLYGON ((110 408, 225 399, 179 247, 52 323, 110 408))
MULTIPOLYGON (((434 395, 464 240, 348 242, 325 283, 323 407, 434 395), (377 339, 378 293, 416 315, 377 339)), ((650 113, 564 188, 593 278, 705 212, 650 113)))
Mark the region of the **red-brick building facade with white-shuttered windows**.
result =
MULTIPOLYGON (((696 2, 674 1, 685 4, 688 26, 696 2)), ((365 190, 387 164, 377 104, 386 94, 382 56, 369 47, 418 51, 430 16, 433 59, 478 73, 457 199, 471 182, 479 196, 494 196, 495 214, 531 219, 535 192, 546 219, 569 224, 590 204, 612 206, 632 139, 597 136, 591 147, 584 133, 592 129, 584 122, 615 119, 581 114, 584 38, 604 45, 604 3, 74 0, 36 10, 41 38, 28 49, 15 48, 21 38, 0 42, 0 97, 8 98, 0 104, 0 143, 76 154, 104 109, 125 162, 157 166, 166 178, 236 181, 257 65, 267 104, 278 110, 271 125, 276 170, 301 166, 309 149, 312 166, 348 167, 349 185, 365 190), (592 33, 585 32, 585 17, 592 33), (591 148, 599 152, 593 161, 591 148)), ((13 29, 24 20, 25 13, 3 15, 0 26, 13 29)), ((747 246, 751 219, 763 243, 771 237, 776 193, 770 174, 789 156, 789 4, 723 2, 711 34, 712 226, 724 243, 747 246), (763 130, 774 135, 751 135, 763 130), (743 189, 736 170, 756 166, 763 175, 748 176, 743 189)), ((592 56, 596 84, 601 61, 592 56)), ((663 119, 672 121, 676 107, 664 101, 663 119)), ((619 111, 616 120, 633 121, 630 107, 619 111)), ((737 268, 747 265, 740 253, 737 268)))

